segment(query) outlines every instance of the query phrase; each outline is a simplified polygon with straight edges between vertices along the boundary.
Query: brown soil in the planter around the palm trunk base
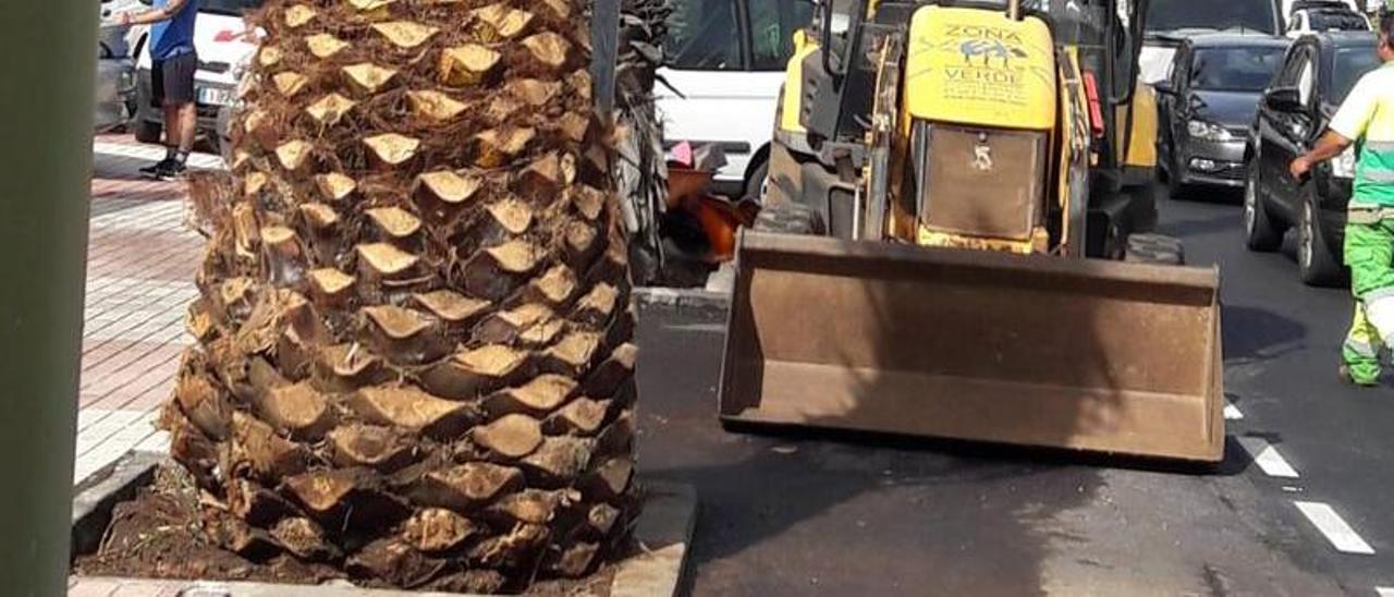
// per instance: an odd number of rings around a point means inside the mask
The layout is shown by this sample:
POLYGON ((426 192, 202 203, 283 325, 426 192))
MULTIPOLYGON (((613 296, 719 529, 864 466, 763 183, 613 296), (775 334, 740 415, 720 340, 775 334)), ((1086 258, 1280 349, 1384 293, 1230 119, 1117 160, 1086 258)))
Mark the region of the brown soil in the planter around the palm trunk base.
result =
MULTIPOLYGON (((137 497, 120 502, 112 512, 112 524, 96 554, 77 554, 78 576, 117 576, 144 579, 230 580, 283 584, 322 584, 347 579, 357 586, 395 589, 371 577, 351 577, 335 566, 307 564, 286 555, 262 561, 248 559, 217 545, 209 537, 208 516, 215 504, 204 501, 188 473, 163 466, 155 483, 142 487, 137 497)), ((601 566, 584 579, 538 580, 530 596, 609 596, 615 577, 613 565, 601 566)), ((471 591, 468 572, 449 575, 445 582, 421 590, 471 591), (454 586, 449 583, 454 582, 454 586)))

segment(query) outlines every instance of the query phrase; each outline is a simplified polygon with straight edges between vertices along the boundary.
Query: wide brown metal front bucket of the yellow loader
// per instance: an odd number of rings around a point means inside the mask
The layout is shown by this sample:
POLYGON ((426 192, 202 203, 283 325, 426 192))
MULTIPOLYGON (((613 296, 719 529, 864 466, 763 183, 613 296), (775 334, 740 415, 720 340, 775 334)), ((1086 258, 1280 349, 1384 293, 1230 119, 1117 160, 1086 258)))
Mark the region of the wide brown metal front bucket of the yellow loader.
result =
POLYGON ((742 234, 726 423, 1218 462, 1218 271, 742 234))

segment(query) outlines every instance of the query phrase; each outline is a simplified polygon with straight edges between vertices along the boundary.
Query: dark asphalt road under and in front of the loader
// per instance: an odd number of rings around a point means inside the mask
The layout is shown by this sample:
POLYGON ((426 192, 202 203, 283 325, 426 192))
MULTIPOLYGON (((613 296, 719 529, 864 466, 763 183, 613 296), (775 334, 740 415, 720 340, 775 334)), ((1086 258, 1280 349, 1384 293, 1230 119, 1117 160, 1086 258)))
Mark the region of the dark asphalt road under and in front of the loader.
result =
POLYGON ((1227 462, 1214 470, 732 434, 715 416, 721 314, 645 307, 640 466, 697 487, 691 593, 1374 596, 1394 587, 1394 508, 1384 495, 1394 485, 1394 439, 1384 432, 1394 431, 1394 386, 1335 381, 1349 298, 1303 287, 1291 257, 1243 251, 1236 205, 1160 208, 1163 232, 1186 240, 1190 264, 1223 271, 1225 384, 1242 418, 1230 421, 1227 462), (1243 446, 1264 453, 1262 466, 1243 446), (1328 531, 1344 522, 1355 543, 1331 536, 1347 550, 1363 543, 1373 554, 1338 551, 1296 502, 1310 502, 1303 508, 1328 531))

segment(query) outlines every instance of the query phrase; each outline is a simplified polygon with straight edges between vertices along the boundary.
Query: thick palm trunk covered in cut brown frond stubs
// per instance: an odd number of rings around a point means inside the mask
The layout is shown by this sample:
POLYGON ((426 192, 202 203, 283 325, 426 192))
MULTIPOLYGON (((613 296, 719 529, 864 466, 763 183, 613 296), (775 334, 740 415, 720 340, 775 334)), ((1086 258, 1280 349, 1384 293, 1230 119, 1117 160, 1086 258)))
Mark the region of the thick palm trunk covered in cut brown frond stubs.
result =
POLYGON ((634 512, 626 234, 581 0, 270 0, 163 425, 254 558, 579 576, 634 512))

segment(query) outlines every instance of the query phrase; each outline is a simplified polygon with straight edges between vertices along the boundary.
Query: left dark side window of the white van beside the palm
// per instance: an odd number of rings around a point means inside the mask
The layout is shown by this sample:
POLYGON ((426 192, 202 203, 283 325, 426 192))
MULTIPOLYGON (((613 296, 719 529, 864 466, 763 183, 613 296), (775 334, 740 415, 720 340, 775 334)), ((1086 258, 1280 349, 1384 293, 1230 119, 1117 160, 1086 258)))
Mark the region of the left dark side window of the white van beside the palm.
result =
POLYGON ((687 0, 668 17, 666 47, 675 68, 739 71, 740 21, 735 0, 687 0))

